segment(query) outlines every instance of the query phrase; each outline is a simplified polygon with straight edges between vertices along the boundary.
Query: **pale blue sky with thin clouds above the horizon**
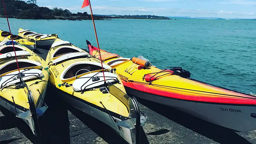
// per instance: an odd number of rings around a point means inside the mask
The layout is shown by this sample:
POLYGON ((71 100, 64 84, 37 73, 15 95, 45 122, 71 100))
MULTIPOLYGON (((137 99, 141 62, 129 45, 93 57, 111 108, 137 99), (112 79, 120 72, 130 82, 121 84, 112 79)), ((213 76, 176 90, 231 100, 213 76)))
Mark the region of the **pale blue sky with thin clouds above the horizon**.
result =
MULTIPOLYGON (((37 0, 40 7, 81 9, 83 0, 37 0)), ((91 0, 93 14, 256 18, 256 0, 91 0)))

